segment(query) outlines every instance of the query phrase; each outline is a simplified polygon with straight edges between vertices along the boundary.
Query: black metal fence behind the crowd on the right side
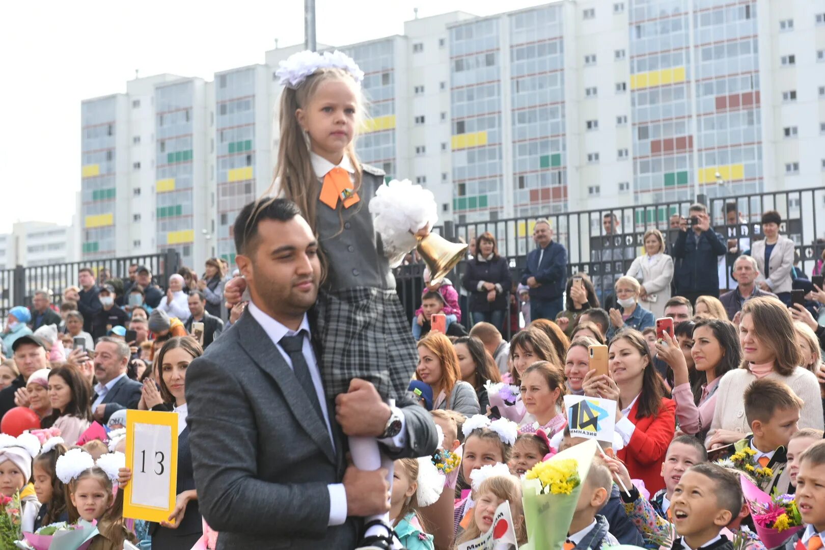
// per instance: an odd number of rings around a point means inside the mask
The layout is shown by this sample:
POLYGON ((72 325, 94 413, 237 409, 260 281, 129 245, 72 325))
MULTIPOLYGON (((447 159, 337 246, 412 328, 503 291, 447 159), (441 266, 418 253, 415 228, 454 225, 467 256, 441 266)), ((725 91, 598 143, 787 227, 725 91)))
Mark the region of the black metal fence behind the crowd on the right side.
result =
MULTIPOLYGON (((717 191, 718 189, 714 190, 717 191)), ((749 250, 751 243, 763 237, 761 215, 776 210, 782 217, 780 233, 796 244, 799 252, 799 268, 810 275, 825 250, 825 188, 784 190, 738 196, 699 195, 696 202, 705 204, 712 227, 728 240, 728 248, 736 248, 737 255, 749 250), (735 204, 735 207, 728 204, 735 204), (728 209, 732 211, 728 214, 728 209), (728 218, 728 215, 731 218, 728 218), (733 221, 733 223, 728 223, 733 221)), ((546 216, 554 230, 554 241, 561 242, 568 250, 568 275, 579 271, 587 273, 601 296, 612 293, 613 283, 629 269, 636 256, 644 253, 644 233, 657 228, 665 237, 666 246, 676 241, 678 228, 672 228, 671 218, 676 214, 688 217, 691 201, 676 200, 661 204, 639 204, 613 209, 564 212, 546 216)), ((535 248, 533 228, 536 218, 489 219, 468 223, 445 223, 436 228, 450 240, 469 242, 482 233, 496 237, 501 256, 510 260, 512 278, 521 279, 527 253, 535 248)), ((719 260, 719 286, 733 288, 730 268, 736 255, 730 254, 719 260)), ((423 265, 402 266, 396 270, 398 295, 412 319, 413 312, 421 303, 424 287, 423 265)), ((456 289, 460 289, 463 266, 450 274, 456 289)), ((462 308, 466 298, 461 297, 462 308)), ((463 317, 464 326, 470 327, 469 314, 463 317)), ((507 324, 507 323, 506 323, 507 324)))

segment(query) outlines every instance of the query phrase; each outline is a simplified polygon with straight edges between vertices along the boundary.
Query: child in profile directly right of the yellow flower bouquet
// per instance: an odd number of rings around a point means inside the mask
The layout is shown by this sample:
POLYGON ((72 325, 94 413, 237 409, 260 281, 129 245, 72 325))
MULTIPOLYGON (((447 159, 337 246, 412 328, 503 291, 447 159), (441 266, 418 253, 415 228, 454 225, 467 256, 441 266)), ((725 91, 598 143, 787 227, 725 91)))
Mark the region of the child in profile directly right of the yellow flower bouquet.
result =
POLYGON ((576 512, 568 529, 568 539, 565 549, 599 550, 618 546, 619 541, 610 534, 610 524, 605 516, 599 514, 602 506, 610 498, 610 489, 613 487, 613 478, 610 469, 601 457, 596 456, 587 472, 587 478, 582 483, 582 492, 578 496, 576 512))

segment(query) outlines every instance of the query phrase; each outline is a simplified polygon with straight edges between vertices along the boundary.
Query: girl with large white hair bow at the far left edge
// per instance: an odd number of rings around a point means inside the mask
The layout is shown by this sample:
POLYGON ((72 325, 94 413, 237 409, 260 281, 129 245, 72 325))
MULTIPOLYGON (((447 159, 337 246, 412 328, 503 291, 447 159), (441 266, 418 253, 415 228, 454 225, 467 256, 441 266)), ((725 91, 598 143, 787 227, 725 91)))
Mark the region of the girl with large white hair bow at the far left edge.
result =
POLYGON ((21 529, 31 531, 40 511, 31 480, 31 460, 40 453, 40 440, 24 432, 17 437, 0 434, 0 493, 20 496, 21 529))

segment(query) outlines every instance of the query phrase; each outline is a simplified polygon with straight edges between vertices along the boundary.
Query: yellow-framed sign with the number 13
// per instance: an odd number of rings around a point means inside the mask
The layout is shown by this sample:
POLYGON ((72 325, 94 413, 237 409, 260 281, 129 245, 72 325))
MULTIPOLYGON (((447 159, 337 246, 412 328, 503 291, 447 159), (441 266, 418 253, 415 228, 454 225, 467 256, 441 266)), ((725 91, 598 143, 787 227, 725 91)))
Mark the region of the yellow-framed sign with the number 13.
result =
POLYGON ((126 411, 123 517, 167 521, 177 499, 177 412, 126 411))

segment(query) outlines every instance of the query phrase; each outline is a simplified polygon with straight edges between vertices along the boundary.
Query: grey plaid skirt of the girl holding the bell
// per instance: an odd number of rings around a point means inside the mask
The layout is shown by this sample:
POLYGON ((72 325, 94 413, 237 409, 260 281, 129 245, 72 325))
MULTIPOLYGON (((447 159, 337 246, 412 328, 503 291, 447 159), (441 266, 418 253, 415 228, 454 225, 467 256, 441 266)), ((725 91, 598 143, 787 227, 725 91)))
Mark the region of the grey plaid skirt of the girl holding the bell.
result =
POLYGON ((321 290, 315 313, 329 399, 347 393, 352 378, 373 383, 384 400, 407 392, 418 351, 395 290, 321 290))

